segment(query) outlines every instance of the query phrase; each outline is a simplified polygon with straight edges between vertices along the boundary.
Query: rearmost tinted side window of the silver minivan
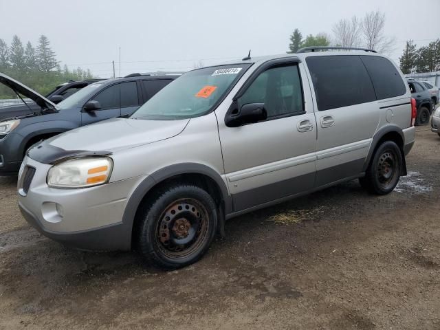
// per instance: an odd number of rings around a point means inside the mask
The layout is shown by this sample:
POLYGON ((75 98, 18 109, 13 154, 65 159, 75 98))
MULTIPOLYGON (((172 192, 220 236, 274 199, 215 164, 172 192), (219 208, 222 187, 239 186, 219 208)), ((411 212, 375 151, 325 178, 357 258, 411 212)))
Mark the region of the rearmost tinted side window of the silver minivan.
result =
POLYGON ((369 70, 377 99, 394 98, 406 93, 406 87, 396 67, 384 57, 361 56, 369 70))

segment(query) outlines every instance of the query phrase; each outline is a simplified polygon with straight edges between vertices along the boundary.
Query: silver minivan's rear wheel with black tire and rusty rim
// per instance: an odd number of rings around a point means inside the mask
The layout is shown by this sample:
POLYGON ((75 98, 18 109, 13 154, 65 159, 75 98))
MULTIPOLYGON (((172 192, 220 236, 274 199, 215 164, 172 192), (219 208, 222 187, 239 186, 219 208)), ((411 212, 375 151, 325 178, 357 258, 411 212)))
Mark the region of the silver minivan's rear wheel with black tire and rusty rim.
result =
POLYGON ((359 179, 360 184, 373 194, 389 194, 399 182, 402 166, 399 146, 393 141, 385 141, 375 151, 365 177, 359 179))

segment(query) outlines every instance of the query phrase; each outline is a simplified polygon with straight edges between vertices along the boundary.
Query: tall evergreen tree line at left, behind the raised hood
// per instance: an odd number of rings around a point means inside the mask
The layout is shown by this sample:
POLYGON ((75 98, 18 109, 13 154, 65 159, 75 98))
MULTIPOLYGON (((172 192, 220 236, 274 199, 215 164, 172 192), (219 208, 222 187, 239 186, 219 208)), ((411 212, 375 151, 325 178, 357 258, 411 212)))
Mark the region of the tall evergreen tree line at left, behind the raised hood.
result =
MULTIPOLYGON (((56 59, 56 54, 50 47, 47 36, 39 37, 38 45, 34 47, 30 41, 23 46, 19 36, 12 38, 10 45, 0 39, 0 72, 6 74, 24 85, 47 94, 61 83, 69 80, 91 79, 94 76, 90 70, 80 67, 69 70, 67 65, 63 69, 56 59)), ((0 86, 0 98, 15 98, 10 89, 0 86)))

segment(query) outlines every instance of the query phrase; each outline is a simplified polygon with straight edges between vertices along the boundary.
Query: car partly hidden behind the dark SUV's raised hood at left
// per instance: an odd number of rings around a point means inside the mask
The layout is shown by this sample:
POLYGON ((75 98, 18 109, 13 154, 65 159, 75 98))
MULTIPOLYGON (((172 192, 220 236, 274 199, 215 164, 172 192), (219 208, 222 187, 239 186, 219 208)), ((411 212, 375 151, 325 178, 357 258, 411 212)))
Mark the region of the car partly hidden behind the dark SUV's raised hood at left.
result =
MULTIPOLYGON (((69 81, 68 83, 56 86, 54 90, 47 94, 47 96, 45 97, 48 100, 52 101, 54 104, 57 104, 65 100, 69 96, 72 96, 83 87, 96 83, 100 80, 102 79, 69 81)), ((11 118, 14 116, 29 115, 34 111, 41 110, 39 104, 36 104, 30 98, 24 100, 17 99, 14 101, 17 102, 13 102, 11 104, 5 103, 4 101, 0 102, 0 120, 4 120, 5 118, 11 118), (26 102, 26 104, 23 104, 23 101, 26 102)))

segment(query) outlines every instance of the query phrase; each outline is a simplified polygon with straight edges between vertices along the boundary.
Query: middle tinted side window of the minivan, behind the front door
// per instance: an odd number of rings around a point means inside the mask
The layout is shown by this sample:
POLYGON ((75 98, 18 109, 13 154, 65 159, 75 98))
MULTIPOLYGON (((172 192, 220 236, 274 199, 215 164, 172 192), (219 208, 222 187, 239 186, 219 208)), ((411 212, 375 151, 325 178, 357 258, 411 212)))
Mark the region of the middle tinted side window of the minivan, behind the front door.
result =
POLYGON ((376 100, 359 56, 314 56, 306 61, 319 111, 376 100))

